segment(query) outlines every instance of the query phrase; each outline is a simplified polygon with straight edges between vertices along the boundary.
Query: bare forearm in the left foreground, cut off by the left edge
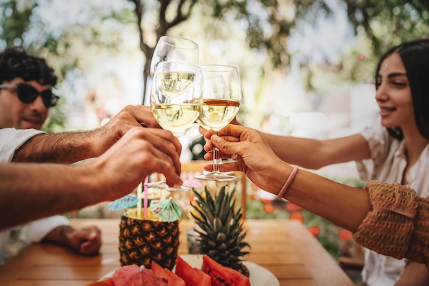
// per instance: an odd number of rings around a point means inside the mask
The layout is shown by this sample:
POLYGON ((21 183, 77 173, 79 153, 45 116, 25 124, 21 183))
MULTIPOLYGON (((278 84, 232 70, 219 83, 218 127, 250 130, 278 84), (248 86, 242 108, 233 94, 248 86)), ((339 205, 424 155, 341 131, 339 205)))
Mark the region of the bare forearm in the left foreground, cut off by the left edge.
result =
POLYGON ((0 229, 99 202, 91 171, 80 165, 0 165, 0 229))

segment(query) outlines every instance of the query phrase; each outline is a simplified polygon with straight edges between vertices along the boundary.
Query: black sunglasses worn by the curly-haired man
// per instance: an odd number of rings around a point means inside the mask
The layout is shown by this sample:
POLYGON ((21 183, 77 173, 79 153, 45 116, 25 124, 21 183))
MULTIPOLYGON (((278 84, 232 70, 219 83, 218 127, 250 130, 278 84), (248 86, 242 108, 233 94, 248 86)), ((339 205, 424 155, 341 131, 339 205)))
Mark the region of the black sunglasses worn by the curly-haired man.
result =
POLYGON ((16 94, 19 100, 25 104, 31 104, 41 95, 43 104, 45 104, 47 108, 55 106, 60 98, 54 95, 50 89, 39 93, 36 88, 29 84, 0 84, 0 88, 16 88, 16 94))

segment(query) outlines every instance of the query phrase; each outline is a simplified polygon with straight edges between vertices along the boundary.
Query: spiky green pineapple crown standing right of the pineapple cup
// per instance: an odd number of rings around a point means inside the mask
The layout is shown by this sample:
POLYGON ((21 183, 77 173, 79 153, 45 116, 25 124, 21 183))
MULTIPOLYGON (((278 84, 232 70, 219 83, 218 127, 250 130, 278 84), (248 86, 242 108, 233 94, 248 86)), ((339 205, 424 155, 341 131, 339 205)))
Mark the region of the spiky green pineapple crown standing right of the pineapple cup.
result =
POLYGON ((197 191, 194 193, 197 200, 193 202, 195 212, 192 212, 192 216, 199 226, 195 231, 199 234, 197 243, 201 254, 207 254, 221 265, 249 276, 249 270, 243 264, 243 257, 249 252, 243 248, 250 246, 243 241, 246 234, 241 208, 237 211, 234 208, 235 189, 226 193, 225 187, 222 187, 215 198, 212 198, 207 187, 204 195, 197 191))

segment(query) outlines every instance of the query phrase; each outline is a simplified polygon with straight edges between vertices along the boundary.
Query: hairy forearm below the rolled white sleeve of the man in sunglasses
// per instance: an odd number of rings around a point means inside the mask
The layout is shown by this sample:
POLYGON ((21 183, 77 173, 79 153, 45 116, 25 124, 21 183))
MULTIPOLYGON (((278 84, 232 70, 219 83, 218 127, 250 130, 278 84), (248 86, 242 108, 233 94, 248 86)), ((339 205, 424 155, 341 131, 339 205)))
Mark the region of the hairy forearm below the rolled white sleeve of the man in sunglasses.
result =
POLYGON ((95 156, 90 132, 38 134, 16 150, 12 162, 75 163, 95 156))

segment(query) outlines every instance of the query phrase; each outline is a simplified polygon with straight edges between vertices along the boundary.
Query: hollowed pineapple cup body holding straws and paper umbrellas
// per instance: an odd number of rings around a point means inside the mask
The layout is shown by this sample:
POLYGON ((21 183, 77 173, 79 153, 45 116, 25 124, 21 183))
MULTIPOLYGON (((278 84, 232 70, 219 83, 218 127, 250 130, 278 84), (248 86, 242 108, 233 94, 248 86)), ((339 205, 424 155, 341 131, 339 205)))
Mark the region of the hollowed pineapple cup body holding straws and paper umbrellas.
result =
MULTIPOLYGON (((134 210, 130 210, 134 211, 134 210)), ((119 253, 121 265, 145 265, 152 260, 172 270, 179 248, 179 221, 140 219, 132 213, 121 217, 119 253)))

